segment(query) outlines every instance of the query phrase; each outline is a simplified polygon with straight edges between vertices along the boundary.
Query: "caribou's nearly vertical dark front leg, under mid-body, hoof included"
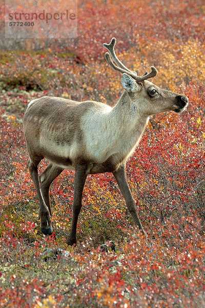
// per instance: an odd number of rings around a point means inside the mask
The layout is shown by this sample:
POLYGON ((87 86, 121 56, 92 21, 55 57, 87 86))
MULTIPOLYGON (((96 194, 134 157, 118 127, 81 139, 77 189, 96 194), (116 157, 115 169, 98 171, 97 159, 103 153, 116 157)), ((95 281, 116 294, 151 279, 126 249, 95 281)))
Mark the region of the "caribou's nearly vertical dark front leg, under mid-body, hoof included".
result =
POLYGON ((70 246, 77 243, 76 228, 78 215, 82 207, 83 189, 87 177, 87 165, 77 165, 75 167, 74 179, 74 199, 73 199, 73 217, 70 233, 66 239, 66 243, 70 246))

